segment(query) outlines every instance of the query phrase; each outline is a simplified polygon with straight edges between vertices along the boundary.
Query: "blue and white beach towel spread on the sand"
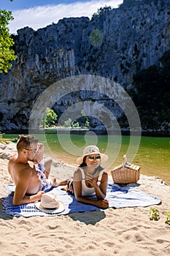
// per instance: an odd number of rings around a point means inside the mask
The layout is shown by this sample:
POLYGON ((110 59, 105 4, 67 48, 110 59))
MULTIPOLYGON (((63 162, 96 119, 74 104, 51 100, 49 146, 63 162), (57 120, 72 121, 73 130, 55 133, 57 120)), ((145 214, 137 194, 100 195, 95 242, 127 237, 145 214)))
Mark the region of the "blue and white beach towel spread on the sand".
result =
MULTIPOLYGON (((12 197, 15 186, 4 185, 4 189, 6 192, 6 195, 3 198, 4 211, 6 214, 15 217, 50 216, 70 214, 72 212, 102 210, 96 206, 79 203, 74 196, 61 190, 60 187, 56 187, 53 188, 52 191, 57 194, 58 200, 63 201, 65 204, 65 210, 59 214, 46 214, 45 212, 39 211, 35 207, 34 203, 28 203, 21 206, 12 206, 12 197)), ((148 195, 146 192, 143 192, 136 187, 119 187, 117 184, 108 184, 106 199, 109 200, 109 208, 145 207, 161 203, 161 198, 148 195)))

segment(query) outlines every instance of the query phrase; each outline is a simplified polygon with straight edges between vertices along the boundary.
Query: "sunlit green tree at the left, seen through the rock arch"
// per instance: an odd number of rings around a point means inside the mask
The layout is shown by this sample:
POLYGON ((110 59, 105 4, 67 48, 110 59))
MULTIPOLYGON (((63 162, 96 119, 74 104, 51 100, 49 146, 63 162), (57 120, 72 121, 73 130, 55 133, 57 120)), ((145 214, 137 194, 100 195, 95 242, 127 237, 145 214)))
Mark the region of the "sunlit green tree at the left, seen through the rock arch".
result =
POLYGON ((42 119, 40 127, 53 127, 56 120, 57 114, 54 112, 54 110, 46 108, 45 117, 42 119))

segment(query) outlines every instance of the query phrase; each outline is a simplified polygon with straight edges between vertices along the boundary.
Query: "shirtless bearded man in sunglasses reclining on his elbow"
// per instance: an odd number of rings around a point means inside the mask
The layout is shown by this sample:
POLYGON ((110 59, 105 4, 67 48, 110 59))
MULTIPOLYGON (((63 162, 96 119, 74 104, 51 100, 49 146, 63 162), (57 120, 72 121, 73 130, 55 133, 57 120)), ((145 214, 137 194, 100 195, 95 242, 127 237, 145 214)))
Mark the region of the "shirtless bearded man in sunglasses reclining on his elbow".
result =
MULTIPOLYGON (((60 185, 60 182, 56 182, 56 178, 42 178, 41 171, 37 170, 34 165, 39 151, 39 140, 36 137, 21 135, 17 143, 17 150, 18 153, 14 154, 8 163, 9 174, 16 186, 13 206, 41 200, 46 188, 60 185)), ((66 181, 64 182, 66 183, 66 181)), ((61 185, 64 182, 61 181, 61 185)))

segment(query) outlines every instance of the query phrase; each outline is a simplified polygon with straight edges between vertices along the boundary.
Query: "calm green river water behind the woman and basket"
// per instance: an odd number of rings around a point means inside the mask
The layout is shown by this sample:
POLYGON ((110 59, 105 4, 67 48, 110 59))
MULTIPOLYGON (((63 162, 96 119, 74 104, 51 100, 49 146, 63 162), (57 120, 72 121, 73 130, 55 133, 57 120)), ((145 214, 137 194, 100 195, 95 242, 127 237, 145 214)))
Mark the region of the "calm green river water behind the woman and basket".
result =
MULTIPOLYGON (((17 138, 18 135, 4 135, 4 138, 17 138)), ((76 165, 76 159, 82 154, 83 147, 95 144, 101 152, 109 153, 108 172, 120 165, 123 154, 127 153, 130 136, 117 135, 69 135, 69 134, 36 134, 39 141, 45 143, 45 150, 56 159, 76 165), (107 148, 109 145, 109 148, 107 148), (108 151, 109 150, 109 151, 108 151)), ((133 138, 130 158, 134 165, 140 165, 140 173, 147 176, 158 176, 170 185, 170 138, 141 137, 133 138), (136 151, 136 148, 138 150, 136 151)), ((128 156, 128 154, 127 154, 128 156)), ((131 160, 130 159, 130 160, 131 160)), ((129 161, 131 162, 131 161, 129 161)))

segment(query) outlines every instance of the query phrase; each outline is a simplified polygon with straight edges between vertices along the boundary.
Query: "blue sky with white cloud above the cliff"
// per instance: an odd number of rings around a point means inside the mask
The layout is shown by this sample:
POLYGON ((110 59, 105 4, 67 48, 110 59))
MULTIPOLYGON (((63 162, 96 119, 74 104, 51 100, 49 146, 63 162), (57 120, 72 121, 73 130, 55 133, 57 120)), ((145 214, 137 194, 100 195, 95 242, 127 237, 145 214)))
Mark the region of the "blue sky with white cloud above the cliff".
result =
POLYGON ((9 23, 9 32, 17 34, 25 26, 37 30, 62 18, 91 18, 100 7, 117 8, 122 3, 123 0, 0 0, 0 9, 12 11, 14 20, 9 23))

